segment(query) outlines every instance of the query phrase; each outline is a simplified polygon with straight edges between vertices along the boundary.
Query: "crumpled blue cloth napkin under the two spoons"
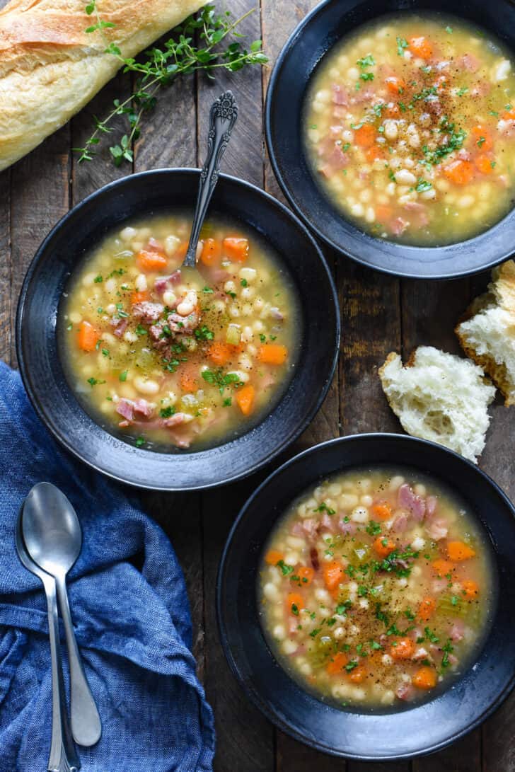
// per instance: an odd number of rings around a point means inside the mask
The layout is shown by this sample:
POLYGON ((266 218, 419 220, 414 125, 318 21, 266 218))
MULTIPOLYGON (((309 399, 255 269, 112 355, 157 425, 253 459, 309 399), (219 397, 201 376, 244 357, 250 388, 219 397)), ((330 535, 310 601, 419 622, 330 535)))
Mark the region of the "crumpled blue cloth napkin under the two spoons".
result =
MULTIPOLYGON (((46 601, 19 563, 15 520, 32 485, 54 482, 83 528, 69 598, 103 731, 83 772, 208 772, 212 711, 195 675, 185 582, 158 525, 59 449, 19 374, 0 363, 0 770, 46 769, 51 675, 46 601), (137 566, 137 567, 135 567, 137 566)), ((62 631, 63 652, 66 652, 62 631)), ((67 663, 65 660, 65 677, 67 663)))

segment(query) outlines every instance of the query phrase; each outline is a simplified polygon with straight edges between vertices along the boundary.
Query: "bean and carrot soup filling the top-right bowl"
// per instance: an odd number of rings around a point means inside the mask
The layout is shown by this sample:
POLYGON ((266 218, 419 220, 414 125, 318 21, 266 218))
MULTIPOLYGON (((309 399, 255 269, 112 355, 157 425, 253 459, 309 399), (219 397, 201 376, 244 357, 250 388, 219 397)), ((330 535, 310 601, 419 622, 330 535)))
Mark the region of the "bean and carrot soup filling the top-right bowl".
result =
POLYGON ((460 242, 513 207, 513 58, 462 20, 361 26, 320 63, 304 124, 324 192, 379 238, 460 242))

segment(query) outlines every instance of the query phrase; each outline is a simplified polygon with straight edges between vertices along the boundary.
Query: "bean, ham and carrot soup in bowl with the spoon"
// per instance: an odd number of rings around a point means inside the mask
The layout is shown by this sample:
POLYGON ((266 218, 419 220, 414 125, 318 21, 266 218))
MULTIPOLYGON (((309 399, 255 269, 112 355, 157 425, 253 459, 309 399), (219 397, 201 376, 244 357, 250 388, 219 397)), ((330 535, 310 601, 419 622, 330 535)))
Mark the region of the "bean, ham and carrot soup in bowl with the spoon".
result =
POLYGON ((185 272, 190 229, 187 216, 154 216, 108 235, 59 311, 63 361, 85 410, 162 451, 256 425, 289 383, 300 337, 290 278, 260 239, 208 222, 198 272, 185 272))

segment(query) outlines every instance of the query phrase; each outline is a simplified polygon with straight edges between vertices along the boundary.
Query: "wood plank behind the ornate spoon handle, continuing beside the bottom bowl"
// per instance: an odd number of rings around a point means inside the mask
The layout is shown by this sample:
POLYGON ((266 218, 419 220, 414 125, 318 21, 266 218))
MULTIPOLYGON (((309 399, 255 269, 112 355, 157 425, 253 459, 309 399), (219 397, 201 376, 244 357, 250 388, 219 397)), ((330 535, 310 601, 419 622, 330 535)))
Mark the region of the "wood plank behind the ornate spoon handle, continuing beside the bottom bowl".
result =
MULTIPOLYGON (((255 0, 232 0, 239 17, 256 8, 255 0)), ((259 8, 242 23, 246 42, 260 37, 259 8)), ((215 83, 198 76, 198 165, 205 160, 208 113, 212 101, 231 89, 239 106, 239 121, 225 151, 222 171, 263 185, 261 75, 257 67, 232 76, 217 73, 215 83)), ((217 772, 272 772, 273 730, 246 700, 235 682, 219 644, 215 625, 215 577, 227 533, 255 482, 244 482, 203 496, 206 692, 215 710, 217 772)))

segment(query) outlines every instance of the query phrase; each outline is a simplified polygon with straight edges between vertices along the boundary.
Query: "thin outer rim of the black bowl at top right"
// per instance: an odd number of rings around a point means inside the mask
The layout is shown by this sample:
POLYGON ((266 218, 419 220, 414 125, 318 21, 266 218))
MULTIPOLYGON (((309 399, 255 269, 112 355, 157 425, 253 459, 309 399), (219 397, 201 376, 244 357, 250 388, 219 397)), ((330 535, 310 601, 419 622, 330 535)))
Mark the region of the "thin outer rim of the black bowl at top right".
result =
MULTIPOLYGON (((320 2, 317 3, 317 5, 315 5, 315 7, 312 8, 310 12, 308 12, 307 15, 305 15, 303 19, 301 19, 300 22, 295 26, 293 31, 290 33, 290 36, 288 36, 288 38, 286 39, 286 42, 281 48, 279 56, 277 56, 277 59, 273 65, 272 73, 270 75, 269 83, 266 89, 265 107, 264 107, 264 115, 263 115, 266 149, 269 154, 270 163, 272 164, 273 173, 276 176, 276 180, 279 182, 281 191, 283 191, 283 195, 286 197, 286 200, 290 204, 293 211, 303 221, 303 223, 307 225, 307 227, 315 235, 317 235, 319 239, 321 239, 323 242, 325 242, 325 244, 330 246, 331 249, 334 249, 335 252, 338 253, 338 255, 354 260, 354 262, 359 263, 361 266, 365 266, 366 268, 371 269, 373 271, 378 271, 378 273, 383 273, 383 274, 386 274, 387 276, 397 276, 399 279, 423 279, 425 281, 427 280, 442 281, 446 279, 461 279, 461 278, 465 278, 466 276, 474 276, 476 275, 476 273, 481 273, 482 271, 490 270, 495 266, 498 266, 501 262, 504 262, 505 260, 510 259, 510 257, 513 256, 513 249, 510 249, 509 247, 507 247, 507 251, 503 252, 502 256, 496 257, 495 259, 490 260, 490 262, 485 263, 484 266, 481 266, 479 268, 470 268, 470 269, 466 269, 458 272, 446 271, 445 273, 427 273, 427 274, 412 273, 408 270, 392 270, 392 269, 385 268, 384 266, 371 265, 371 263, 368 262, 368 260, 361 258, 359 255, 356 254, 356 252, 351 253, 350 251, 347 251, 347 249, 344 249, 343 247, 341 247, 341 245, 337 244, 337 242, 331 239, 329 235, 324 233, 324 231, 322 231, 319 228, 319 226, 317 225, 317 222, 310 219, 310 216, 307 215, 307 213, 304 212, 303 208, 301 208, 300 205, 297 203, 296 198, 293 195, 293 192, 290 190, 290 186, 286 184, 284 176, 280 170, 279 161, 277 160, 276 149, 273 143, 272 112, 273 112, 273 107, 274 107, 275 97, 276 97, 276 84, 280 80, 280 77, 282 76, 282 70, 283 70, 286 57, 290 54, 291 49, 296 44, 296 40, 304 31, 304 28, 310 24, 310 22, 313 20, 313 18, 316 15, 318 15, 320 12, 323 12, 324 8, 326 8, 327 5, 334 5, 335 2, 337 2, 337 0, 320 0, 320 2)), ((354 0, 354 2, 357 5, 359 0, 354 0)), ((506 0, 500 0, 500 2, 506 2, 506 0)), ((392 12, 397 12, 397 11, 404 12, 406 10, 413 10, 413 9, 414 8, 412 8, 411 6, 410 8, 387 8, 385 9, 385 11, 381 11, 380 14, 372 15, 371 19, 378 18, 380 15, 388 15, 388 13, 392 13, 392 12)), ((432 10, 432 9, 429 8, 429 10, 432 10)), ((459 12, 449 11, 449 13, 459 16, 459 12)), ((505 217, 508 217, 510 214, 515 214, 515 208, 513 208, 510 212, 508 212, 508 214, 505 215, 505 217)), ((342 215, 342 218, 346 220, 346 218, 344 218, 343 215, 342 215)), ((348 221, 346 220, 346 222, 348 221)), ((447 245, 447 247, 465 245, 468 242, 473 242, 474 240, 478 239, 480 236, 484 236, 491 229, 495 228, 496 225, 500 224, 500 222, 502 222, 502 220, 494 223, 492 228, 476 234, 476 236, 474 236, 471 239, 466 239, 465 241, 462 241, 462 242, 456 242, 456 244, 450 244, 450 245, 447 245)), ((364 235, 367 235, 367 234, 364 234, 364 235)), ((374 236, 368 236, 368 238, 376 240, 374 236)), ((402 246, 404 246, 405 248, 410 248, 414 250, 431 249, 430 247, 421 248, 415 245, 408 245, 408 244, 402 245, 402 246)), ((444 249, 444 247, 435 247, 435 249, 444 249)))

